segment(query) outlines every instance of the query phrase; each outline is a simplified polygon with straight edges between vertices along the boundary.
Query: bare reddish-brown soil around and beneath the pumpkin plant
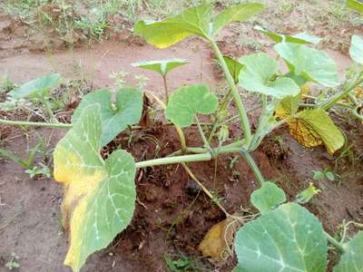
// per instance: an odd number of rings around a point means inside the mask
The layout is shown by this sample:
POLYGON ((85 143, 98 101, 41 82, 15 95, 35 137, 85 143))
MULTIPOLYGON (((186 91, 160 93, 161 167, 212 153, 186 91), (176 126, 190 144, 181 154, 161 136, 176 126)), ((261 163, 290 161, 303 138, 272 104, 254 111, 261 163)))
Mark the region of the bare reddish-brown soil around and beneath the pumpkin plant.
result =
MULTIPOLYGON (((263 24, 280 32, 308 31, 324 37, 321 47, 334 57, 339 71, 344 73, 351 63, 347 56, 349 37, 363 34, 362 24, 354 15, 346 15, 339 9, 338 1, 302 2, 270 1, 269 11, 260 20, 229 27, 219 37, 223 53, 233 56, 260 50, 273 53, 272 44, 252 31, 252 24, 263 24)), ((223 86, 210 49, 198 39, 161 51, 142 44, 129 33, 113 34, 101 44, 77 40, 74 42, 77 46, 72 47, 57 35, 48 35, 51 43, 47 40, 44 45, 43 34, 15 15, 0 13, 0 75, 8 74, 15 83, 24 83, 44 73, 58 72, 66 78, 92 83, 94 89, 114 87, 109 76, 113 72, 128 72, 131 74, 128 79, 134 82, 132 75, 140 71, 130 63, 180 57, 188 59, 190 64, 170 74, 171 89, 190 83, 205 83, 217 91, 223 86)), ((147 89, 162 96, 160 79, 152 73, 144 75, 150 79, 147 89)), ((253 106, 253 97, 243 96, 247 105, 253 106)), ((363 126, 341 112, 333 117, 348 136, 349 156, 339 153, 332 157, 322 148, 304 149, 285 128, 270 135, 254 154, 264 176, 275 180, 290 200, 307 188, 309 182, 316 183, 322 191, 307 207, 332 235, 343 219, 358 222, 363 219, 363 126), (312 170, 327 168, 340 176, 337 182, 312 180, 312 170)), ((50 150, 64 135, 64 131, 58 130, 36 132, 44 135, 50 150)), ((239 130, 233 128, 230 133, 238 135, 239 130)), ((201 145, 196 140, 199 139, 196 131, 187 134, 188 145, 201 145)), ((131 151, 136 160, 150 160, 179 148, 172 128, 157 124, 135 132, 131 144, 125 138, 128 135, 119 135, 104 155, 121 146, 131 151)), ((10 130, 0 146, 24 157, 27 147, 34 146, 37 139, 35 131, 10 130)), ((218 160, 215 181, 214 161, 191 164, 191 170, 231 213, 250 209, 250 193, 257 188, 248 165, 237 160, 230 167, 232 159, 225 156, 218 160)), ((140 170, 136 180, 138 201, 131 226, 109 248, 94 254, 83 271, 168 271, 163 260, 168 254, 190 257, 197 264, 191 270, 231 271, 233 257, 215 263, 201 257, 197 249, 205 233, 223 219, 223 214, 202 192, 198 193, 199 188, 181 166, 140 170)), ((31 180, 14 162, 0 159, 0 271, 7 271, 5 264, 13 252, 19 257, 19 271, 70 271, 63 265, 67 234, 60 224, 61 201, 62 188, 54 180, 31 180)))

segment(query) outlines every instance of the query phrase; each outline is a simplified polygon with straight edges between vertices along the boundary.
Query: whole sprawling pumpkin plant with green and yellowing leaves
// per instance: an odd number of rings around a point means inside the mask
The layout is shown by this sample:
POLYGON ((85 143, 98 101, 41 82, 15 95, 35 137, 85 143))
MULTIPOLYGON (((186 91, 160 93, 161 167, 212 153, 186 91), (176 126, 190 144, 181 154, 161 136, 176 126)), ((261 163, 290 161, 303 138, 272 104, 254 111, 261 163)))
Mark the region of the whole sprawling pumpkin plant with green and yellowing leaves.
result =
MULTIPOLYGON (((55 127, 72 127, 55 147, 54 179, 64 184, 63 225, 70 230, 70 248, 64 263, 74 271, 80 271, 87 257, 107 247, 130 224, 135 207, 137 169, 181 163, 191 178, 198 181, 187 163, 215 160, 225 153, 240 154, 260 183, 260 189, 251 195, 251 202, 260 210, 260 217, 244 224, 235 239, 239 259, 236 270, 324 271, 328 241, 343 253, 336 271, 360 271, 363 268, 361 233, 348 243, 332 238, 323 230, 319 219, 300 205, 304 201, 283 204, 287 199, 285 193, 264 179, 251 157, 264 137, 283 124, 288 124, 292 135, 307 147, 324 144, 330 153, 334 153, 345 141, 329 117, 328 106, 303 106, 301 110, 306 83, 329 88, 339 84, 335 63, 329 55, 307 45, 314 44, 316 38, 278 36, 274 48, 287 63, 289 73, 282 73, 278 60, 266 53, 253 53, 238 60, 222 55, 215 41, 221 28, 226 24, 244 22, 262 10, 263 5, 248 3, 232 6, 215 15, 213 5, 198 5, 162 21, 135 24, 134 33, 158 48, 172 46, 189 36, 200 37, 211 45, 228 83, 229 91, 221 103, 203 84, 184 86, 169 93, 166 73, 186 61, 174 59, 134 64, 162 75, 166 104, 157 98, 156 101, 178 131, 180 150, 164 158, 137 162, 127 151, 118 150, 103 160, 100 155, 103 145, 140 120, 142 91, 139 89, 122 88, 115 93, 115 102, 108 89, 87 94, 74 112, 72 125, 54 124, 55 127), (241 90, 260 96, 262 110, 256 130, 250 126, 241 90), (230 115, 231 101, 238 112, 237 117, 230 115), (201 128, 200 115, 213 120, 208 135, 201 128), (240 135, 229 139, 228 124, 235 119, 240 122, 240 135), (182 130, 191 125, 198 127, 203 146, 187 146, 182 130)), ((332 101, 335 102, 337 97, 332 101)), ((223 210, 227 219, 244 222, 224 209, 202 184, 201 188, 223 210)))

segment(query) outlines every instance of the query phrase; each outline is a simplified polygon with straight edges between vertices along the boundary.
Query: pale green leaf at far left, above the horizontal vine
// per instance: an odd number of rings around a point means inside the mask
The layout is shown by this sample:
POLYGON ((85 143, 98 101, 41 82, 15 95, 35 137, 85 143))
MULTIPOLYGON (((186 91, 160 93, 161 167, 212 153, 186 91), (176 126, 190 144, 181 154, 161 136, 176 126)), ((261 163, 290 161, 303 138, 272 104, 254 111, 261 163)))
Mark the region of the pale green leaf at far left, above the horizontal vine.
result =
POLYGON ((9 92, 15 98, 43 98, 51 89, 55 88, 61 81, 59 73, 49 73, 21 85, 15 91, 9 92))

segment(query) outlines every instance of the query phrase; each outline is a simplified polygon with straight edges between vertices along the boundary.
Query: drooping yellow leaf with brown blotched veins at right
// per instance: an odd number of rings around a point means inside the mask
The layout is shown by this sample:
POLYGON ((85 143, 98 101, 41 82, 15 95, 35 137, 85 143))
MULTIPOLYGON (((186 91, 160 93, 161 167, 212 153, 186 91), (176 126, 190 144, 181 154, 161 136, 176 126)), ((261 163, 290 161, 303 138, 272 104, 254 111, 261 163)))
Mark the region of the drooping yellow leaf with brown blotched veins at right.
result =
POLYGON ((332 154, 344 145, 343 133, 324 110, 305 110, 295 116, 288 121, 289 131, 303 146, 315 147, 324 144, 332 154))

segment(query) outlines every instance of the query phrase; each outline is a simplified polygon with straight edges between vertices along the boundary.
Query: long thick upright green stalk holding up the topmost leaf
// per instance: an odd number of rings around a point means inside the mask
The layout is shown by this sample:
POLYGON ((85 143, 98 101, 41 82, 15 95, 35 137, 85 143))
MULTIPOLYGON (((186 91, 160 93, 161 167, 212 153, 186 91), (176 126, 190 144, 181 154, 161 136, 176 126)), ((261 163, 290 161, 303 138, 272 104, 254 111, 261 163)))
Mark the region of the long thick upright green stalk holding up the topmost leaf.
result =
POLYGON ((230 89, 231 89, 233 100, 236 103, 237 111, 240 115, 241 129, 244 132, 244 137, 246 138, 247 144, 250 145, 250 141, 251 141, 251 137, 252 137, 251 131, 250 131, 250 121, 247 116, 247 112, 243 106, 242 100, 240 99, 240 93, 237 90, 233 77, 231 76, 230 70, 228 69, 227 63, 223 59, 220 48, 218 48, 218 45, 212 39, 210 39, 209 42, 211 43, 211 47, 213 48, 213 51, 216 54, 217 59, 221 63, 221 69, 223 70, 223 72, 226 76, 227 83, 229 84, 230 89))

